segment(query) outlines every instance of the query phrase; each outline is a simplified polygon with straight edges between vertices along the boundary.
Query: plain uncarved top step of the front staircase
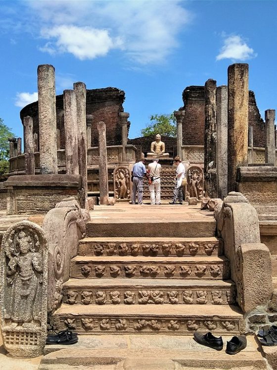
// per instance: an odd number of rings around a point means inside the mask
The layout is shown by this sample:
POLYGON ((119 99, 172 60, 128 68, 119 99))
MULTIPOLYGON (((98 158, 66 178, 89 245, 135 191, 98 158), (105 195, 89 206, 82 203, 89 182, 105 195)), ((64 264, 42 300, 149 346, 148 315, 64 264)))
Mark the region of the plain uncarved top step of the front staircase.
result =
MULTIPOLYGON (((169 205, 167 205, 169 207, 169 205)), ((138 207, 138 211, 141 210, 141 206, 138 207)), ((145 211, 150 212, 151 206, 145 205, 145 211)), ((155 206, 155 207, 166 207, 166 206, 155 206)), ((181 211, 182 207, 185 206, 171 206, 175 207, 176 211, 181 211)), ((155 209, 156 210, 156 209, 155 209)), ((149 214, 149 213, 148 213, 149 214)), ((87 224, 87 231, 89 237, 136 237, 143 235, 144 237, 153 237, 155 234, 160 237, 175 237, 175 238, 190 238, 190 237, 211 237, 215 236, 216 220, 214 217, 203 216, 202 218, 184 219, 178 213, 176 216, 172 216, 172 219, 165 218, 164 216, 159 218, 158 214, 152 217, 149 221, 149 217, 141 221, 123 218, 124 214, 118 215, 116 220, 108 218, 103 222, 103 218, 92 218, 87 224)), ((158 239, 157 238, 157 239, 158 239)))

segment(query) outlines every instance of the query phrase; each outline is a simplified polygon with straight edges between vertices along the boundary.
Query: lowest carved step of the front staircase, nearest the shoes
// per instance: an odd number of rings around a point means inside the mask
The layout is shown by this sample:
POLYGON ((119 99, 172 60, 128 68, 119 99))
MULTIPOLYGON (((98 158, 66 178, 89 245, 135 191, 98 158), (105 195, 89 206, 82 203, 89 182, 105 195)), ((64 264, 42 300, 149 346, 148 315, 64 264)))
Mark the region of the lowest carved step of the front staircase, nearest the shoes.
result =
POLYGON ((54 313, 56 331, 68 327, 80 334, 213 334, 243 331, 236 306, 214 305, 65 305, 54 313))

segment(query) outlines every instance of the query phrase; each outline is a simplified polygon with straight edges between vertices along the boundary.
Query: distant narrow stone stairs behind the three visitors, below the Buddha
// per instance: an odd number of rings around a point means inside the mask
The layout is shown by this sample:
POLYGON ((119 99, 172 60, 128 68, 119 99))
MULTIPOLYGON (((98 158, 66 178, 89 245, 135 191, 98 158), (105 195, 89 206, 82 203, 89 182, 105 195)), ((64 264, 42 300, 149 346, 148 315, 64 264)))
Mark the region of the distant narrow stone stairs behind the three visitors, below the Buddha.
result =
MULTIPOLYGON (((162 166, 161 171, 161 200, 171 200, 174 190, 174 177, 176 166, 162 166)), ((143 181, 143 200, 150 200, 148 181, 143 181)))

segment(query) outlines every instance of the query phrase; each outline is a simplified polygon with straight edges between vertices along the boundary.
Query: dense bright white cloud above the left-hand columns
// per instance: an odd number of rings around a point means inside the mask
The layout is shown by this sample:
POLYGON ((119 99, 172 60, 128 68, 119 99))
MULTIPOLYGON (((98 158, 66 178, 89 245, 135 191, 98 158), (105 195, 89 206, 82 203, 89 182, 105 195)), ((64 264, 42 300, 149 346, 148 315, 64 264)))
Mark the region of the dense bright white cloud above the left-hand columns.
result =
MULTIPOLYGON (((113 40, 109 36, 107 30, 72 25, 43 29, 42 36, 46 39, 54 38, 56 41, 52 45, 55 45, 58 52, 72 53, 81 60, 104 56, 120 44, 118 39, 113 40)), ((49 43, 45 50, 49 52, 49 43)))

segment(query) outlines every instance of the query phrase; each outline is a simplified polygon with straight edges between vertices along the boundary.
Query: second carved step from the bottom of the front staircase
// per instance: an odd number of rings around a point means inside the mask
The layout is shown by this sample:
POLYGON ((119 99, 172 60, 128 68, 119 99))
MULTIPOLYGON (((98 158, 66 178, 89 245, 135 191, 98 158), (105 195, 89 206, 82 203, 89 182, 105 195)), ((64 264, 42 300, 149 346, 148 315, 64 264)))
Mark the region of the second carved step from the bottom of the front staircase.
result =
POLYGON ((69 279, 63 285, 63 303, 117 304, 235 304, 231 281, 176 279, 69 279))

